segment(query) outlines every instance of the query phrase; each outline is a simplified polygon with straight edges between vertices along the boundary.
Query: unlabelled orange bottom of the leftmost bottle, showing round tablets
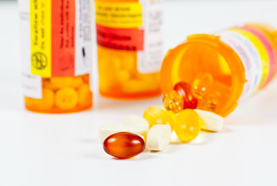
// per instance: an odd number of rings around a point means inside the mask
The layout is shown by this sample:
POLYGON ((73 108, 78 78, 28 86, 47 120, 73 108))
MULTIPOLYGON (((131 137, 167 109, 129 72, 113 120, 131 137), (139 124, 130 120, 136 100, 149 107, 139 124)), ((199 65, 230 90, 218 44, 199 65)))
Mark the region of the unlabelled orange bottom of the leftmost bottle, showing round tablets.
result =
POLYGON ((30 110, 73 110, 91 105, 89 74, 42 79, 42 99, 25 97, 30 110))

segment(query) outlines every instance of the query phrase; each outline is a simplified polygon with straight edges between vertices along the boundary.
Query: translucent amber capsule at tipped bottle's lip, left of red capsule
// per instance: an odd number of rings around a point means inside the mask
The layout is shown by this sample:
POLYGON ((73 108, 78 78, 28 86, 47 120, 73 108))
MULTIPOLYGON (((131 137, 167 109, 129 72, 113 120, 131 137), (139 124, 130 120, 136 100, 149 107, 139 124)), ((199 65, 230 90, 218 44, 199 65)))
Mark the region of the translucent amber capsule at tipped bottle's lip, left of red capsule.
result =
POLYGON ((175 114, 181 112, 184 108, 183 97, 175 90, 171 90, 163 97, 163 104, 166 110, 172 111, 175 114))

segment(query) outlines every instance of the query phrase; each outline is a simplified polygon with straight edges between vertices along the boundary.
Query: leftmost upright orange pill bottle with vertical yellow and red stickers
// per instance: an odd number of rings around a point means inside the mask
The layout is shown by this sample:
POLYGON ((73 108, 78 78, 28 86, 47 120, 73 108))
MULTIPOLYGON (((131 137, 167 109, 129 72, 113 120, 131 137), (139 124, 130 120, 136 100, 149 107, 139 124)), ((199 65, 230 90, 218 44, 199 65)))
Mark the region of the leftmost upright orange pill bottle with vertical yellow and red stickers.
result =
POLYGON ((19 0, 26 108, 91 108, 91 1, 19 0))

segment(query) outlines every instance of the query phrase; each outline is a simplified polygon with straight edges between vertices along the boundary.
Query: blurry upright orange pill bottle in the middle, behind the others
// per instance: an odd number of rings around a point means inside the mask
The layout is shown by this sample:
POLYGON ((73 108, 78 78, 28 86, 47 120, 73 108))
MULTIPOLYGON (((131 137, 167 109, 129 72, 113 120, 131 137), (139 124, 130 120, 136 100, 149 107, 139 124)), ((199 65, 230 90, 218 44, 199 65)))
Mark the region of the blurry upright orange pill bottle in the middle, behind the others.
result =
POLYGON ((96 0, 95 9, 100 94, 159 95, 161 0, 96 0))

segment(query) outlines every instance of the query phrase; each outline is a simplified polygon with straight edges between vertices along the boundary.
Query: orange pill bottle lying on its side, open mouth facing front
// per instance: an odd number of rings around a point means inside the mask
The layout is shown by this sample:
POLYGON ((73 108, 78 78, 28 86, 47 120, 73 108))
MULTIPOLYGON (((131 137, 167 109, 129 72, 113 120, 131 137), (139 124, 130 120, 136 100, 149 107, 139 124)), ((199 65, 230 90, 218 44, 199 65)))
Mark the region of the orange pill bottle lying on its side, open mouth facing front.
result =
POLYGON ((225 117, 276 74, 277 31, 267 24, 236 26, 213 35, 190 35, 166 54, 163 94, 191 85, 197 108, 225 117))

